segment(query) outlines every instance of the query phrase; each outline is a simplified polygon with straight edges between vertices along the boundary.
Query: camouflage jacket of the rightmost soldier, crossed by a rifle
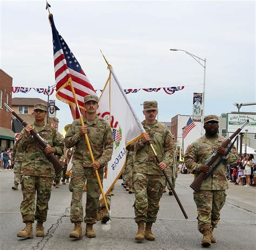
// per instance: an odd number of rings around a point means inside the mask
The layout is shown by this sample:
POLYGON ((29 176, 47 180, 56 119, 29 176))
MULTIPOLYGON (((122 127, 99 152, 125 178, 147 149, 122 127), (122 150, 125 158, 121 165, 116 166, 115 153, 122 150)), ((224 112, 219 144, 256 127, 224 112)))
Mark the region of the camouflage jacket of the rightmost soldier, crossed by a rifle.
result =
MULTIPOLYGON (((185 164, 187 169, 194 174, 196 178, 200 173, 201 165, 205 164, 206 160, 213 154, 215 149, 226 140, 226 138, 218 135, 218 138, 212 144, 205 135, 199 138, 197 141, 188 145, 185 153, 185 164)), ((225 148, 227 150, 229 145, 225 148)), ((219 161, 214 162, 213 166, 219 161)), ((238 153, 235 147, 233 147, 230 153, 218 168, 213 172, 211 177, 208 177, 201 185, 200 190, 225 190, 228 189, 228 183, 226 178, 227 164, 236 163, 238 159, 238 153)), ((212 166, 212 167, 213 167, 212 166)))

